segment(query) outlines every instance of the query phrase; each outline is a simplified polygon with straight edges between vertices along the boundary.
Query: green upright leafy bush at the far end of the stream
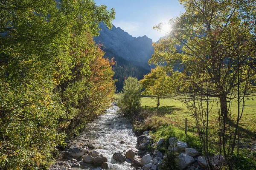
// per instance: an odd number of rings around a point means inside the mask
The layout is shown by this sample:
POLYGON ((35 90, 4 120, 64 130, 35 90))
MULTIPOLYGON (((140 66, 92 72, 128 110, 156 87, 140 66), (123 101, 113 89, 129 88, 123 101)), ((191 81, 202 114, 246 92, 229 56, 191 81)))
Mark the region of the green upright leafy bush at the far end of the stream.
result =
POLYGON ((122 89, 122 97, 119 101, 121 111, 125 114, 137 112, 140 107, 140 91, 142 85, 134 77, 128 77, 125 80, 124 87, 122 89))

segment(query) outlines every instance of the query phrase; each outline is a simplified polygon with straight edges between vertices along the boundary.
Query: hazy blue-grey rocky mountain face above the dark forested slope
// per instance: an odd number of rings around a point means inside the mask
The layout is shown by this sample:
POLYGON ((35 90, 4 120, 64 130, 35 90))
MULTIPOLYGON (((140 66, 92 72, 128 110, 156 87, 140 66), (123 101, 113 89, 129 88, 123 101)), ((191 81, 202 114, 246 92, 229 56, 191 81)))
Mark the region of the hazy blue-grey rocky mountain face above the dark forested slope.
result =
POLYGON ((108 29, 104 24, 100 24, 102 30, 100 35, 95 37, 96 43, 103 44, 106 57, 122 57, 136 65, 150 68, 148 59, 154 53, 152 40, 147 36, 132 37, 127 32, 113 25, 108 29), (109 56, 108 56, 109 55, 109 56))

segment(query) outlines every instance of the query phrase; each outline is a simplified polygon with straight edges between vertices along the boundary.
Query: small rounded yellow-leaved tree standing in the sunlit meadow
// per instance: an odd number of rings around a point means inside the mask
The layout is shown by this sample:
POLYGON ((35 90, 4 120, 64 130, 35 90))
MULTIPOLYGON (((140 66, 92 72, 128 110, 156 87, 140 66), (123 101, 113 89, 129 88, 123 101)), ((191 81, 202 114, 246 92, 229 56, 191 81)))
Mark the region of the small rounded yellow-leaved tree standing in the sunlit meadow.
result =
POLYGON ((174 94, 175 83, 168 76, 166 71, 161 66, 152 68, 151 72, 144 76, 144 79, 140 80, 140 83, 145 88, 143 94, 154 95, 157 97, 157 108, 160 105, 160 98, 163 96, 174 94))

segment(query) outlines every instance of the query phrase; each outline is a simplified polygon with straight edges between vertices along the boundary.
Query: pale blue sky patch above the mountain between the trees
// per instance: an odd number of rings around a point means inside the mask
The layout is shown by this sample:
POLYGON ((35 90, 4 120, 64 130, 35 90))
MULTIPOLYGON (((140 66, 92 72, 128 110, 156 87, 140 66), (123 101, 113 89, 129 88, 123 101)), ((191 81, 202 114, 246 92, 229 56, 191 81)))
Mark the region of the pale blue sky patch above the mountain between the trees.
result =
POLYGON ((164 36, 163 32, 153 30, 160 22, 179 16, 183 5, 178 0, 95 0, 97 5, 105 4, 108 9, 115 8, 116 19, 113 25, 120 27, 133 37, 144 35, 153 41, 164 36))

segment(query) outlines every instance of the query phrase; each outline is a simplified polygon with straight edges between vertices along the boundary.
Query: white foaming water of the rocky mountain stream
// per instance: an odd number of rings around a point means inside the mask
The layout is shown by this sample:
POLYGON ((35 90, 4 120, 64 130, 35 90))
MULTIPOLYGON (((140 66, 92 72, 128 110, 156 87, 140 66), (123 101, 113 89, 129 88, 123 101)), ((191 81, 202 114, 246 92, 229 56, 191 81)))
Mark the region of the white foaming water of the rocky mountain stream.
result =
MULTIPOLYGON (((100 116, 99 119, 89 123, 77 141, 89 139, 96 147, 94 150, 108 158, 108 165, 110 170, 132 170, 129 160, 124 163, 116 162, 112 156, 117 151, 128 151, 135 148, 137 138, 132 131, 131 122, 117 114, 119 108, 113 105, 106 111, 105 115, 100 116), (124 141, 124 144, 119 142, 124 141)), ((73 169, 73 168, 72 168, 73 169)), ((101 170, 100 167, 93 167, 92 164, 81 164, 80 168, 75 170, 101 170)))

